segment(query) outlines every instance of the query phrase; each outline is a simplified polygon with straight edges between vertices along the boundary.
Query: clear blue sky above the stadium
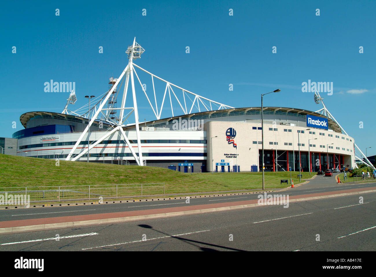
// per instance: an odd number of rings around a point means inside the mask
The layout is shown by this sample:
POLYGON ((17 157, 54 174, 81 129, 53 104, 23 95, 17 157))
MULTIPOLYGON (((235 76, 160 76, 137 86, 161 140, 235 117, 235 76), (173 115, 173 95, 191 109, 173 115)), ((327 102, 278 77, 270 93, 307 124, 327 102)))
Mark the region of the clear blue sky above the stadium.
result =
MULTIPOLYGON (((332 95, 320 93, 327 108, 362 151, 371 146, 368 155, 376 154, 374 1, 25 1, 1 6, 2 137, 23 128, 22 113, 63 110, 68 93, 44 92, 46 81, 75 82, 76 108, 86 104, 85 95, 106 92, 108 78, 117 78, 127 65, 125 51, 136 37, 146 50, 137 65, 233 107, 260 106, 261 93, 281 89, 265 96, 264 105, 315 111, 321 105, 313 102, 312 93, 302 92, 302 82, 333 82, 332 95)), ((138 93, 140 120, 153 119, 138 93)), ((164 112, 167 117, 168 105, 164 112)))

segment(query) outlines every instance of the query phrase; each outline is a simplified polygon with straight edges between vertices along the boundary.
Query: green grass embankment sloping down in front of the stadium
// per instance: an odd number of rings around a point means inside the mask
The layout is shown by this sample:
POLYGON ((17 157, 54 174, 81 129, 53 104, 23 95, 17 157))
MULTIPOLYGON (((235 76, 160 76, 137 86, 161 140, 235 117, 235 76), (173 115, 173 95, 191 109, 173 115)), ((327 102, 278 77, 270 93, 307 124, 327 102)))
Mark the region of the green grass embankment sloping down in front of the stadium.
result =
MULTIPOLYGON (((299 172, 292 172, 294 184, 299 172)), ((309 178, 303 172, 302 178, 309 178)), ((314 173, 311 173, 311 177, 314 173)), ((265 172, 265 188, 283 188, 290 172, 265 172)), ((302 180, 304 182, 304 180, 302 180)), ((262 173, 182 173, 161 167, 118 166, 0 155, 0 187, 165 183, 165 193, 233 191, 262 188, 262 173)))

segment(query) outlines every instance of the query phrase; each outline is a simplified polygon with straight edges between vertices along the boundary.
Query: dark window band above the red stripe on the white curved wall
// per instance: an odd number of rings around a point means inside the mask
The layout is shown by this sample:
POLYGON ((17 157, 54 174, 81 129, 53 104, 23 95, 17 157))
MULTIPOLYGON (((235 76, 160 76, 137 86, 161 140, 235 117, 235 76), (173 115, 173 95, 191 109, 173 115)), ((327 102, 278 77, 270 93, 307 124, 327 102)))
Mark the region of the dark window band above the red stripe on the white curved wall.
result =
MULTIPOLYGON (((90 141, 90 144, 96 143, 97 141, 90 141)), ((129 140, 130 143, 137 143, 136 140, 129 140)), ((103 140, 100 144, 121 144, 125 143, 124 140, 103 140)), ((205 144, 206 140, 141 140, 141 143, 199 143, 205 144)), ((20 146, 21 149, 27 148, 37 148, 37 147, 47 147, 47 146, 65 146, 65 145, 75 145, 76 142, 53 142, 53 143, 38 143, 31 145, 20 146)), ((79 145, 88 145, 88 141, 84 140, 80 142, 79 145)))

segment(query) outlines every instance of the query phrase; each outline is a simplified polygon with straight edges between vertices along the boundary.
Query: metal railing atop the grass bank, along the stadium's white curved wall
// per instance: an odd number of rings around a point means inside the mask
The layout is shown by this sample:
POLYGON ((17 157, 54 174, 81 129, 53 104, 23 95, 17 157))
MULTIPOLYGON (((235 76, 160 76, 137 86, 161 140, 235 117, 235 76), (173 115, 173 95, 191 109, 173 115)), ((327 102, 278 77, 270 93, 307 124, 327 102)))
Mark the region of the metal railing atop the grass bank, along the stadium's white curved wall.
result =
MULTIPOLYGON (((70 160, 74 158, 78 154, 71 155, 70 160)), ((48 151, 30 151, 30 152, 19 152, 17 153, 17 156, 22 157, 30 157, 30 158, 42 158, 42 159, 59 159, 59 160, 65 160, 65 158, 68 157, 68 154, 57 154, 56 152, 48 152, 48 151)), ((88 157, 86 155, 82 155, 77 161, 83 161, 87 162, 88 157)), ((129 165, 129 161, 120 159, 118 157, 108 157, 105 156, 105 154, 97 154, 93 153, 89 156, 89 163, 101 163, 101 164, 119 164, 119 165, 129 165)))

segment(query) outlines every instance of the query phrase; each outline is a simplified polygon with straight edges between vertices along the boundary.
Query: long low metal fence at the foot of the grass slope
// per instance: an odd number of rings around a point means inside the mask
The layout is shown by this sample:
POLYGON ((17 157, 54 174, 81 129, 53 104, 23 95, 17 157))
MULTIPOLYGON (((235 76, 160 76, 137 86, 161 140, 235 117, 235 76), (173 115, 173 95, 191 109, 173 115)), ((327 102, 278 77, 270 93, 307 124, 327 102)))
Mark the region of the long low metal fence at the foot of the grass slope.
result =
POLYGON ((9 199, 12 195, 30 196, 30 202, 99 200, 123 197, 142 197, 165 195, 165 184, 118 184, 118 185, 80 185, 50 187, 0 188, 0 197, 9 199))

